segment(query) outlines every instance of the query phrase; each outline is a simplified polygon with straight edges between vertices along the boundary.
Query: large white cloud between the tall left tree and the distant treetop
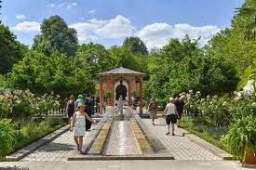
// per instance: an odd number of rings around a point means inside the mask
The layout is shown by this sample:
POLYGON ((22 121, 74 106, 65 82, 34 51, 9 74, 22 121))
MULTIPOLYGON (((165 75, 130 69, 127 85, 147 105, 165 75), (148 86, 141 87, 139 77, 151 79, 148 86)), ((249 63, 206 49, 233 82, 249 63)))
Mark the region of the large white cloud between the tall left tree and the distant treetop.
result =
POLYGON ((111 20, 92 19, 70 25, 78 33, 81 43, 104 38, 123 38, 130 36, 134 30, 130 21, 120 15, 111 20))

